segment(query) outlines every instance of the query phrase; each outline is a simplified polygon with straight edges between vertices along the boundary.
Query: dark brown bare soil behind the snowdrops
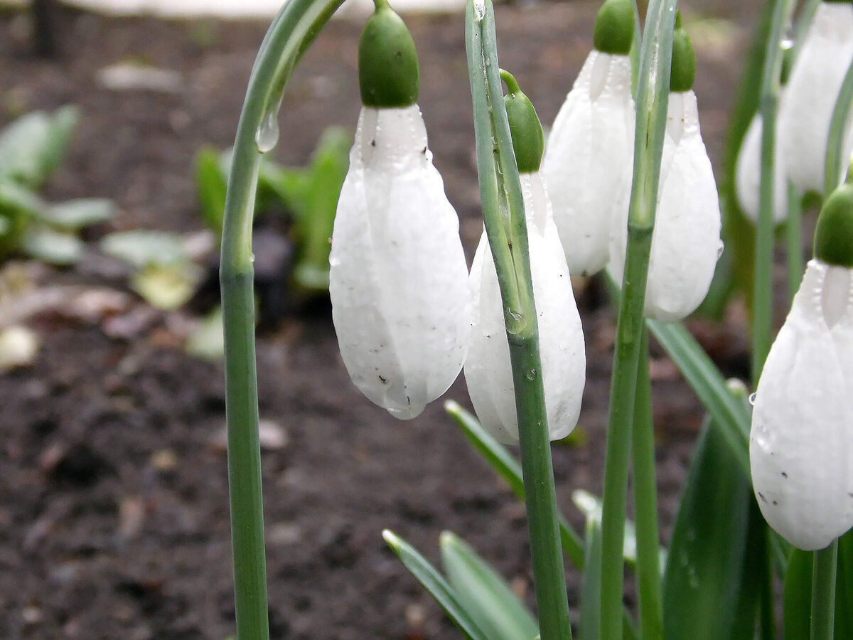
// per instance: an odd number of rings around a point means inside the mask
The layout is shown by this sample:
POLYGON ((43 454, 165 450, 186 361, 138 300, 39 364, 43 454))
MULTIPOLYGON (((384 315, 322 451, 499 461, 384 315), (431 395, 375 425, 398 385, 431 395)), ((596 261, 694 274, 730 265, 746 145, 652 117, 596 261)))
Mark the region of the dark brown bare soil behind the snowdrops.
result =
MULTIPOLYGON (((715 160, 754 4, 704 3, 709 16, 731 21, 705 21, 704 35, 694 34, 699 107, 715 160)), ((589 50, 596 6, 497 10, 502 65, 546 123, 589 50)), ((34 108, 81 109, 67 163, 45 195, 116 201, 119 218, 90 231, 92 241, 112 229, 200 229, 193 154, 233 142, 266 26, 71 10, 59 18, 61 56, 43 61, 29 53, 26 18, 0 15, 0 125, 34 108), (176 70, 183 84, 155 93, 96 82, 105 65, 133 58, 176 70)), ((409 25, 431 147, 470 258, 481 223, 463 20, 421 16, 409 25)), ((279 160, 305 163, 326 125, 354 128, 359 31, 335 21, 306 55, 282 108, 279 160)), ((103 281, 84 269, 38 276, 43 286, 103 281)), ((589 361, 586 437, 554 451, 560 504, 576 526, 571 492, 601 491, 613 336, 600 283, 579 305, 589 361)), ((131 297, 106 315, 56 309, 32 317, 44 340, 37 361, 0 377, 0 637, 220 640, 234 631, 222 365, 184 354, 181 314, 133 325, 145 309, 131 297), (122 319, 136 329, 114 330, 122 319)), ((736 319, 722 329, 692 326, 736 369, 745 349, 736 319)), ((653 365, 665 538, 702 416, 670 361, 657 352, 653 365)), ((273 637, 459 637, 386 549, 384 527, 433 561, 439 532, 458 532, 530 599, 524 510, 440 403, 403 423, 363 399, 340 361, 326 307, 264 330, 258 383, 262 418, 287 433, 263 457, 273 637)), ((467 406, 464 381, 447 397, 467 406)), ((568 581, 576 602, 578 573, 570 569, 568 581)))

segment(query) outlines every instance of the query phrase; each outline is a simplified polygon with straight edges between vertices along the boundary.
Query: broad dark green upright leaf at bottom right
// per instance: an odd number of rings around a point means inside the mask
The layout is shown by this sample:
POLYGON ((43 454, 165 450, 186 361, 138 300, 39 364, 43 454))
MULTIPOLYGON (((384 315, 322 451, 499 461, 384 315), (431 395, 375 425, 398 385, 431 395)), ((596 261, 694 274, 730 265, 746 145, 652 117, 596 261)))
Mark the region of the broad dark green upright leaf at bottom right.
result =
POLYGON ((753 602, 755 592, 745 582, 754 498, 750 482, 734 468, 722 431, 706 421, 664 573, 665 637, 751 637, 755 608, 740 604, 753 602))

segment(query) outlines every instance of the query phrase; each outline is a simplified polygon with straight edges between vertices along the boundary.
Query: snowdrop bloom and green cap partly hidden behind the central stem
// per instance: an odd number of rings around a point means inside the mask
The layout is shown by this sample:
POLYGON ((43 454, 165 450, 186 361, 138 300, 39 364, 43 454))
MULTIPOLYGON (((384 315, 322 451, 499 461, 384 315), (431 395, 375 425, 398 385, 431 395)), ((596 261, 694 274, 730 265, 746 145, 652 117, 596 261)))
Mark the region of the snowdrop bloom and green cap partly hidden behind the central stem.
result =
MULTIPOLYGON (((583 330, 566 257, 538 172, 542 158, 542 126, 512 76, 504 72, 504 79, 510 91, 507 110, 525 201, 548 432, 551 439, 561 439, 575 428, 580 413, 586 367, 583 330), (511 105, 514 101, 516 103, 511 105), (513 107, 523 103, 525 107, 529 105, 528 113, 532 116, 516 127, 513 107)), ((465 362, 468 393, 483 426, 502 443, 514 444, 519 441, 519 425, 504 307, 485 232, 474 255, 470 282, 473 328, 465 362)))

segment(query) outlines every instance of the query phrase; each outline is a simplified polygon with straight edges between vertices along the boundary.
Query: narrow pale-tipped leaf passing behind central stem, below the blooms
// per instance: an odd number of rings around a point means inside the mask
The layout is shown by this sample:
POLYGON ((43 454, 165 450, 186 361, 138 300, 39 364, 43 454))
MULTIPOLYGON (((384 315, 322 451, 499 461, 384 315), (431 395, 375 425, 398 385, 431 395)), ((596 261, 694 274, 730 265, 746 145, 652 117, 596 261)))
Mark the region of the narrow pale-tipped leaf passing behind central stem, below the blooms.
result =
MULTIPOLYGON (((450 417, 462 429, 462 433, 473 445, 474 449, 485 457, 486 462, 495 469, 503 480, 507 481, 509 488, 516 497, 524 501, 525 484, 521 480, 521 466, 509 451, 507 451, 506 447, 501 445, 491 433, 486 431, 475 416, 462 409, 453 400, 448 400, 444 403, 444 410, 450 414, 450 417)), ((562 515, 560 515, 559 524, 560 544, 563 547, 564 553, 566 553, 566 556, 569 556, 575 567, 583 569, 583 544, 580 537, 562 515)))

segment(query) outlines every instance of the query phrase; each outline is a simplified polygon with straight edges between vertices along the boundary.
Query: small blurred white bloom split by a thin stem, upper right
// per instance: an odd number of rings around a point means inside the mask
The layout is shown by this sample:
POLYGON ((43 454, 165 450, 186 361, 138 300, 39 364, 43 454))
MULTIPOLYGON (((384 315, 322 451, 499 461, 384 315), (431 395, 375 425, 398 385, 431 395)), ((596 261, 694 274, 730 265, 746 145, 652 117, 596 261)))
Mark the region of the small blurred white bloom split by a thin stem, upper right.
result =
MULTIPOLYGON (((782 88, 779 94, 780 108, 784 110, 786 104, 786 88, 782 88)), ((740 144, 738 164, 735 172, 735 186, 737 187, 738 202, 740 208, 747 218, 755 224, 758 222, 758 197, 761 186, 761 137, 763 131, 763 119, 761 113, 755 117, 746 130, 743 142, 740 144)), ((775 180, 773 187, 773 221, 779 224, 788 215, 788 183, 787 170, 785 166, 785 154, 782 154, 782 135, 779 123, 776 124, 775 143, 775 180)))

